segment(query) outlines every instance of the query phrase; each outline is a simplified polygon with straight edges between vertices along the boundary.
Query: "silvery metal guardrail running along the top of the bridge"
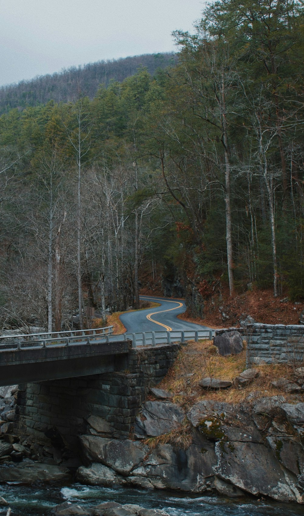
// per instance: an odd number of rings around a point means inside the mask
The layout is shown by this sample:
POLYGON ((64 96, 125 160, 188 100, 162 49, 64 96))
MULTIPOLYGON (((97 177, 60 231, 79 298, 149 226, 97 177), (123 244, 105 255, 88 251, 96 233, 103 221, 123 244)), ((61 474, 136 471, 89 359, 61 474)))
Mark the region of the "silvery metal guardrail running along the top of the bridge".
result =
MULTIPOLYGON (((79 330, 68 333, 63 337, 43 338, 49 333, 37 333, 29 336, 35 336, 32 340, 20 340, 23 335, 6 336, 12 342, 5 343, 0 341, 0 352, 17 351, 26 349, 37 349, 46 347, 62 347, 62 346, 79 346, 84 344, 101 344, 117 341, 132 341, 132 347, 138 346, 156 346, 157 344, 171 344, 175 342, 185 343, 190 340, 198 342, 201 339, 211 340, 214 336, 214 330, 172 330, 172 331, 148 331, 139 333, 122 333, 113 335, 113 326, 106 328, 96 328, 95 330, 79 330), (109 330, 108 332, 102 330, 109 330), (98 333, 99 332, 99 333, 98 333), (76 335, 75 335, 76 334, 76 335), (38 338, 40 337, 40 338, 38 338)), ((0 337, 4 338, 4 337, 0 337)))

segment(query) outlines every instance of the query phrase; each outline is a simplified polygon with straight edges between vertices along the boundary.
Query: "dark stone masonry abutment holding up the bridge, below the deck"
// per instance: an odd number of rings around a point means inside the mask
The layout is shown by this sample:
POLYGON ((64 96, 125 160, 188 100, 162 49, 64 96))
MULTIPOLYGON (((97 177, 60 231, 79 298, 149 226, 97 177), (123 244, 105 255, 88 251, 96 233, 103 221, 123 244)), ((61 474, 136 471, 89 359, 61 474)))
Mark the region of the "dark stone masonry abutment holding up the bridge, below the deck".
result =
POLYGON ((126 439, 150 386, 174 363, 179 344, 130 349, 128 369, 19 386, 15 433, 41 445, 61 441, 77 450, 78 439, 97 425, 104 437, 126 439))

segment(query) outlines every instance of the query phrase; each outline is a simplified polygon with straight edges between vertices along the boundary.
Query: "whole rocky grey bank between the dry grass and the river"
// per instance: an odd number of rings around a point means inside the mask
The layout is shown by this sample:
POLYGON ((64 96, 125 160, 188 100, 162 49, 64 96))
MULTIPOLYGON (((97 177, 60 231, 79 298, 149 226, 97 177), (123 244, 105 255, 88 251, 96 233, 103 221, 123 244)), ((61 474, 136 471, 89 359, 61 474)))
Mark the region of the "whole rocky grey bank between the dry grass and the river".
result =
POLYGON ((186 412, 170 401, 146 401, 134 440, 81 437, 87 466, 78 479, 225 496, 245 493, 304 503, 304 403, 282 396, 254 404, 203 400, 186 412))

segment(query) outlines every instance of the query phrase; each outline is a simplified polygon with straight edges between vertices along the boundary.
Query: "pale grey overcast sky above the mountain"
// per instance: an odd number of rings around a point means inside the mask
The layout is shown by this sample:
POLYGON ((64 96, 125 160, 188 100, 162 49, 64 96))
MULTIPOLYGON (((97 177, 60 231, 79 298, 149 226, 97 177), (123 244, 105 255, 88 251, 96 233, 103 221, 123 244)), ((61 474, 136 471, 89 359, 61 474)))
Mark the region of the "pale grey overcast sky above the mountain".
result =
POLYGON ((0 0, 0 85, 85 63, 176 50, 204 0, 0 0))

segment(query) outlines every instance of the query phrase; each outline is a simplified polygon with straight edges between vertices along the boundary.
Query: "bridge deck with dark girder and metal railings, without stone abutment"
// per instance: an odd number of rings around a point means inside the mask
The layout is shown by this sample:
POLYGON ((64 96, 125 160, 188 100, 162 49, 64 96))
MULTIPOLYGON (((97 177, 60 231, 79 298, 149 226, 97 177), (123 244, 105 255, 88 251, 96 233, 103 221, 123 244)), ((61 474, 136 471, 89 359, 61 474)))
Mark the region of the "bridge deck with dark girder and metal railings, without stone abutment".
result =
POLYGON ((129 349, 212 338, 213 330, 113 335, 113 327, 0 337, 0 386, 128 369, 129 349))

